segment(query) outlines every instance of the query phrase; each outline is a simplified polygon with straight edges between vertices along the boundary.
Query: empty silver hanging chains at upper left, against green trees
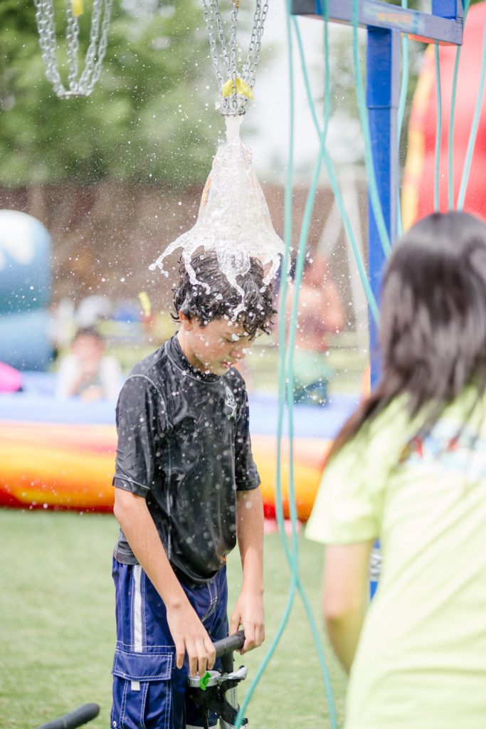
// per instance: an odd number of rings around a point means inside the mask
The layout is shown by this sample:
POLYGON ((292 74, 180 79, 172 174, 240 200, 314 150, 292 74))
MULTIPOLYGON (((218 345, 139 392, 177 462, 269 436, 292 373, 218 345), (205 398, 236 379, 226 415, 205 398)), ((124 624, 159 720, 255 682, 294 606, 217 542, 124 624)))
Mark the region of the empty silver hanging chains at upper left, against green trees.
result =
POLYGON ((66 53, 68 87, 63 85, 58 70, 57 39, 53 0, 34 0, 39 45, 46 77, 60 98, 89 96, 101 74, 101 66, 108 43, 111 5, 113 0, 94 0, 91 18, 90 44, 85 58, 85 68, 78 77, 79 21, 74 16, 71 2, 66 0, 66 53))

